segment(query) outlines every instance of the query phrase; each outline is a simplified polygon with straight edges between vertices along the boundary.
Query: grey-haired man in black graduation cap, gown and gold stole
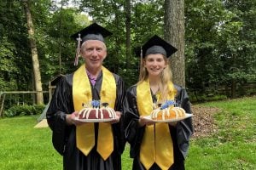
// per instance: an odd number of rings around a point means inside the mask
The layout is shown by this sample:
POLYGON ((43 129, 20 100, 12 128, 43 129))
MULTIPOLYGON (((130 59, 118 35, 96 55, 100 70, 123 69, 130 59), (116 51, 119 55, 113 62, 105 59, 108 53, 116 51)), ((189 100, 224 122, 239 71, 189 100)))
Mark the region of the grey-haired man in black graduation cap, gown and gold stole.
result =
MULTIPOLYGON (((121 117, 125 88, 122 78, 102 65, 107 56, 104 37, 110 34, 94 23, 73 35, 85 64, 61 77, 47 111, 52 142, 63 156, 65 170, 121 169, 125 148, 121 117), (111 122, 77 121, 78 111, 92 100, 108 102, 117 118, 111 122)), ((78 58, 75 62, 77 65, 78 58)))

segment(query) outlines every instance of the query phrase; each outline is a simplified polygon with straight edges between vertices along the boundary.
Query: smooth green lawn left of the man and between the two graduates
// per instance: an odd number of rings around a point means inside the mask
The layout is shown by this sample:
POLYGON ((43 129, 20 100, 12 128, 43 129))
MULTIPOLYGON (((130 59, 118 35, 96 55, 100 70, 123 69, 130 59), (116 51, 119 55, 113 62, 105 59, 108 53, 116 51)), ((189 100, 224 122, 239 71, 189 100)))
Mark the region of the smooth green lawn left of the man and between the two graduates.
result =
MULTIPOLYGON (((58 170, 62 157, 54 150, 49 127, 34 128, 37 116, 0 119, 1 170, 58 170)), ((123 155, 123 169, 131 169, 129 146, 123 155)))

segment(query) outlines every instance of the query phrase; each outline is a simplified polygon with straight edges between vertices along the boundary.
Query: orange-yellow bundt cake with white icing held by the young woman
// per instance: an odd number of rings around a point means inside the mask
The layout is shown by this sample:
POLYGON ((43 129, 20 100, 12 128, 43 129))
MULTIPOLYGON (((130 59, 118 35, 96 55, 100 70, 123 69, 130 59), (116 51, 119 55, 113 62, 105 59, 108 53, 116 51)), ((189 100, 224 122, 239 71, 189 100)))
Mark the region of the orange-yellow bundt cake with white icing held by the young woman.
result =
POLYGON ((177 119, 186 116, 186 111, 181 107, 175 107, 175 102, 172 100, 166 101, 159 108, 154 109, 150 113, 152 120, 164 121, 169 119, 177 119))

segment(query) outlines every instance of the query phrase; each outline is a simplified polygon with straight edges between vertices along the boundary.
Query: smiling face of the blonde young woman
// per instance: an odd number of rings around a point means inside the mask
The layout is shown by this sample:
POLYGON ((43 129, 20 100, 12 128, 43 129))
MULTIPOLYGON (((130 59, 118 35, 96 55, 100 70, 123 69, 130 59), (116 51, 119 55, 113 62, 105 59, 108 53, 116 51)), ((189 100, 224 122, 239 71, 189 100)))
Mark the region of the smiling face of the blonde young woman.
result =
POLYGON ((166 68, 166 65, 166 60, 162 54, 149 54, 144 60, 144 66, 148 71, 148 77, 160 76, 160 73, 166 68))

